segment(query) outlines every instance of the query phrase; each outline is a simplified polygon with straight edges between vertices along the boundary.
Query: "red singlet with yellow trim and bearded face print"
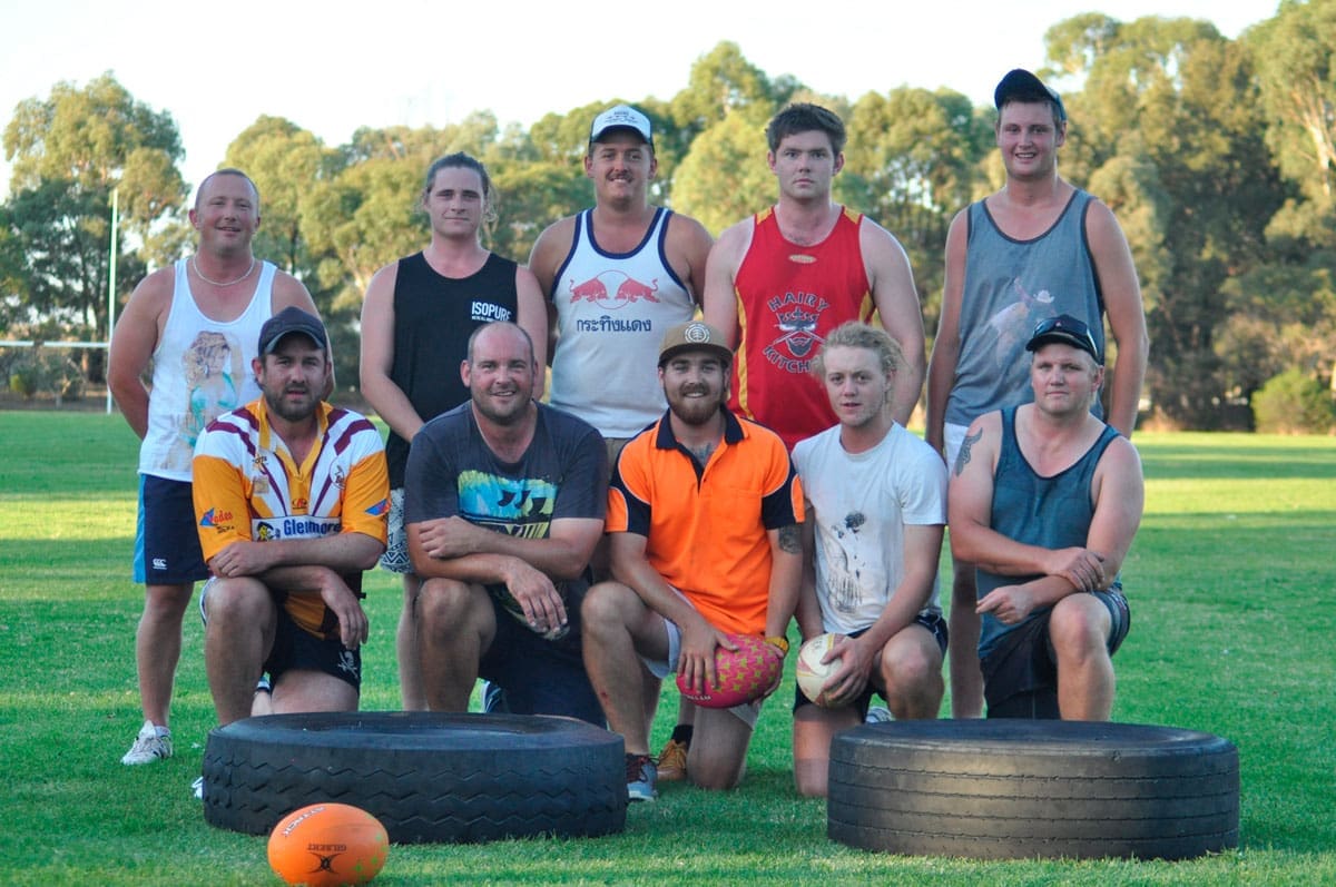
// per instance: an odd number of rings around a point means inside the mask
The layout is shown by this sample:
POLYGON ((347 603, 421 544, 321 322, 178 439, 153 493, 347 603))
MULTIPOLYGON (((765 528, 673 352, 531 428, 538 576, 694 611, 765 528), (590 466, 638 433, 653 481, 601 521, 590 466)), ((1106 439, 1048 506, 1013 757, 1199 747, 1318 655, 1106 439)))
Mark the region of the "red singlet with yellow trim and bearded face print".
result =
POLYGON ((758 212, 737 269, 737 355, 729 407, 768 426, 792 452, 798 441, 835 425, 812 358, 826 335, 872 317, 872 294, 858 242, 863 216, 842 207, 830 235, 798 246, 779 231, 775 211, 758 212))

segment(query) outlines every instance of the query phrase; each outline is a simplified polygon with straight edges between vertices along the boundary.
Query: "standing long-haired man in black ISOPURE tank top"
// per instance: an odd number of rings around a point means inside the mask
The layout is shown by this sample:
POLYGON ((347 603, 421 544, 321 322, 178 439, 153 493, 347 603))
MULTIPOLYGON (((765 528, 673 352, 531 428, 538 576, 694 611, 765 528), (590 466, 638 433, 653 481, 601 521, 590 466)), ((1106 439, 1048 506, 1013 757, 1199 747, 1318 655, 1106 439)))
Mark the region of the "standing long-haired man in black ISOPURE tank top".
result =
POLYGON ((473 330, 493 321, 518 323, 538 361, 548 341, 537 279, 482 246, 482 226, 494 218, 486 168, 466 154, 440 158, 426 172, 422 208, 432 243, 377 271, 362 303, 362 394, 390 426, 390 540, 381 565, 403 574, 395 652, 405 709, 426 708, 417 651, 421 581, 403 536, 409 444, 425 422, 469 399, 460 366, 473 330))

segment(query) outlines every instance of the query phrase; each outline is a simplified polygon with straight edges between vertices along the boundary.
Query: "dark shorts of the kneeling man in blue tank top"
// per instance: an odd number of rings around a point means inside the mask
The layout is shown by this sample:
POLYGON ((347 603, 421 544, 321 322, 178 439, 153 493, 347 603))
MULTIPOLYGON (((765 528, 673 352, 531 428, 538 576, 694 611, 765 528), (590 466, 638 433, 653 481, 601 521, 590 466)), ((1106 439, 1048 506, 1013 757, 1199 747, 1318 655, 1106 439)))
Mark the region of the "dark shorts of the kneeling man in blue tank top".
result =
MULTIPOLYGON (((1132 612, 1121 586, 1108 592, 1090 592, 1109 609, 1113 629, 1109 632, 1109 656, 1118 652, 1132 612)), ((1026 717, 1057 720, 1058 665, 1049 637, 1049 608, 1002 637, 1001 643, 979 661, 983 672, 983 699, 989 704, 989 717, 1026 717)))

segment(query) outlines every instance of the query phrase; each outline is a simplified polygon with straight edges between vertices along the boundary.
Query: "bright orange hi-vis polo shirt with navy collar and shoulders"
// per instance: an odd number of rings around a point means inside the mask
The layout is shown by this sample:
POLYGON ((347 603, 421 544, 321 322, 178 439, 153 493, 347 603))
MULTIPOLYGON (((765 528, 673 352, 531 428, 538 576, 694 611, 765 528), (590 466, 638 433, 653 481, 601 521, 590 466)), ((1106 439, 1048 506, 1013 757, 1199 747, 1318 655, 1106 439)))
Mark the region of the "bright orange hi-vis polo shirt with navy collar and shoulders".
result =
POLYGON ((724 442, 701 466, 668 414, 621 450, 608 489, 609 533, 645 537, 645 558, 724 632, 763 635, 768 530, 803 520, 803 489, 783 441, 724 410, 724 442))

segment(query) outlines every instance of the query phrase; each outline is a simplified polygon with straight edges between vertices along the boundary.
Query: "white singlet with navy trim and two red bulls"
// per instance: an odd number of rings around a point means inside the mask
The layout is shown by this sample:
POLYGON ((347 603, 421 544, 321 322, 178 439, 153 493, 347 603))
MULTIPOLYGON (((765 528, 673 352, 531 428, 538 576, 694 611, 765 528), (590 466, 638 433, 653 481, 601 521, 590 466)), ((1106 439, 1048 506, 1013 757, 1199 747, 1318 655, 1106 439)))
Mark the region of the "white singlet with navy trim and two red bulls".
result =
POLYGON ((669 210, 655 212, 631 252, 603 250, 592 216, 576 216, 570 255, 549 294, 557 310, 549 402, 604 437, 635 437, 667 409, 659 343, 692 318, 696 302, 664 254, 669 210))

